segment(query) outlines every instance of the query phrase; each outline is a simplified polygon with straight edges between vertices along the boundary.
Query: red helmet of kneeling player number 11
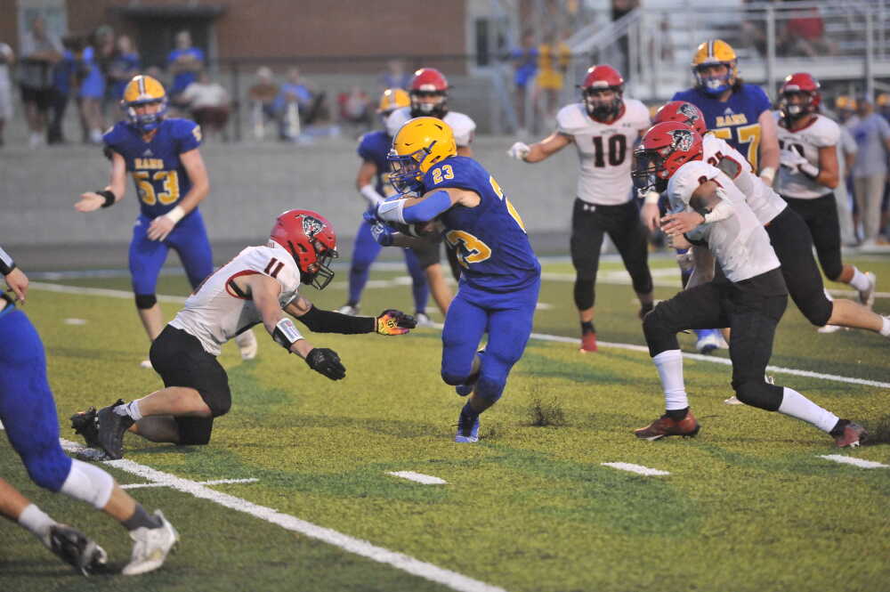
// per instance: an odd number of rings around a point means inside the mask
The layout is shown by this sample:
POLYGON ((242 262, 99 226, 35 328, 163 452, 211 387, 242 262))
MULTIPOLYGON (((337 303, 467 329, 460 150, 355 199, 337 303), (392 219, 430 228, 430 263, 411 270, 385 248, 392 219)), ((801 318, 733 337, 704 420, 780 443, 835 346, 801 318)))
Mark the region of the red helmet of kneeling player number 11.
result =
POLYGON ((334 279, 329 265, 338 256, 336 234, 322 215, 312 210, 287 210, 275 219, 269 239, 294 256, 303 284, 323 289, 334 279))

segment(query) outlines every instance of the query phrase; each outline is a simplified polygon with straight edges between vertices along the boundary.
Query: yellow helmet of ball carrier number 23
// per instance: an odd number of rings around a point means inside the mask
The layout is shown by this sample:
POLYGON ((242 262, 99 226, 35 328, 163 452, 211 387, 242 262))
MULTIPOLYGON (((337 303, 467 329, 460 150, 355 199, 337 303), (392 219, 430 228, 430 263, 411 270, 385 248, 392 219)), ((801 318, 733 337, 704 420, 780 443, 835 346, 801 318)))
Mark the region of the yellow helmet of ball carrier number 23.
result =
POLYGON ((440 118, 410 119, 392 138, 392 150, 386 157, 392 167, 390 182, 400 193, 417 191, 426 171, 456 154, 451 126, 440 118))

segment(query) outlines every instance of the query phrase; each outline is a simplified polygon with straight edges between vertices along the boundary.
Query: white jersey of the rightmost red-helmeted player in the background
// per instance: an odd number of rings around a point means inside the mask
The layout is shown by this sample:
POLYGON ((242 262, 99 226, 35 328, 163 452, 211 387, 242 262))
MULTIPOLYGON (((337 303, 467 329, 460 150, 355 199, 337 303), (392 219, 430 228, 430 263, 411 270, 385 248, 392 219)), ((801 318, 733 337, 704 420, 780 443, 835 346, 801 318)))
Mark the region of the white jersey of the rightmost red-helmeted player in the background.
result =
MULTIPOLYGON (((837 146, 840 142, 840 127, 824 115, 816 115, 810 125, 797 131, 791 131, 782 126, 779 121, 779 146, 782 150, 795 150, 804 155, 806 161, 819 168, 819 149, 826 146, 837 146)), ((779 178, 776 188, 786 197, 794 199, 816 199, 831 192, 820 182, 815 182, 810 177, 797 169, 788 166, 779 167, 779 178)))

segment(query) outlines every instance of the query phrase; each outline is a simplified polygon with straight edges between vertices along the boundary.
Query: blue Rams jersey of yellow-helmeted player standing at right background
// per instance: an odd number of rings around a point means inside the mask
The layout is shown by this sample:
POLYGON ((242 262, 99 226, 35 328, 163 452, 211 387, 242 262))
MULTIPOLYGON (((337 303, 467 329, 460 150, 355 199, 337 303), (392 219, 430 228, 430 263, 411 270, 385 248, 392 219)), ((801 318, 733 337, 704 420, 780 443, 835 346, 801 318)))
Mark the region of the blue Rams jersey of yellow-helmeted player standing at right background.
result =
POLYGON ((741 85, 738 93, 732 93, 729 99, 721 102, 698 88, 691 88, 676 93, 671 101, 688 101, 701 109, 708 130, 745 155, 755 172, 760 170, 757 167, 757 149, 760 147, 757 118, 764 111, 773 109, 764 89, 741 85))

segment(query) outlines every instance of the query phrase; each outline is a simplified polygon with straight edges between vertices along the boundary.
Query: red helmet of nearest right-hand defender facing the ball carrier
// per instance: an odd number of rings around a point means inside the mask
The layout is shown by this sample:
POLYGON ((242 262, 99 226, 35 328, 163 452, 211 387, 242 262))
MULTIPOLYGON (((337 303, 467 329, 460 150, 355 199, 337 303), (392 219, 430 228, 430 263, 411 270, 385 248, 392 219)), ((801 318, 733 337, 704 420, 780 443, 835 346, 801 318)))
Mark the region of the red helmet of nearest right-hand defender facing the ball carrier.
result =
POLYGON ((634 185, 643 191, 665 191, 671 175, 687 162, 700 160, 701 154, 701 136, 692 127, 678 121, 651 126, 634 150, 634 185))

